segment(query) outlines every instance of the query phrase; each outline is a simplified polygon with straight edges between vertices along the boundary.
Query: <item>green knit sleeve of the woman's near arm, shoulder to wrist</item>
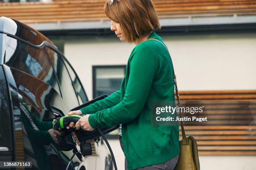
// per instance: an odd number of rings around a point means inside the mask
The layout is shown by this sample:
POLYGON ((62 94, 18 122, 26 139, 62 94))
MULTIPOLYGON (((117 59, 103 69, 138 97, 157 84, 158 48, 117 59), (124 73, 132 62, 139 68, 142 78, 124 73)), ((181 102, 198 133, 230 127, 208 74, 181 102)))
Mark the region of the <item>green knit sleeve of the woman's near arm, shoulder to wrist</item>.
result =
POLYGON ((128 61, 129 77, 125 75, 128 82, 123 100, 113 107, 91 114, 89 123, 92 128, 127 123, 138 116, 148 97, 157 71, 157 62, 157 53, 151 47, 136 46, 128 61))

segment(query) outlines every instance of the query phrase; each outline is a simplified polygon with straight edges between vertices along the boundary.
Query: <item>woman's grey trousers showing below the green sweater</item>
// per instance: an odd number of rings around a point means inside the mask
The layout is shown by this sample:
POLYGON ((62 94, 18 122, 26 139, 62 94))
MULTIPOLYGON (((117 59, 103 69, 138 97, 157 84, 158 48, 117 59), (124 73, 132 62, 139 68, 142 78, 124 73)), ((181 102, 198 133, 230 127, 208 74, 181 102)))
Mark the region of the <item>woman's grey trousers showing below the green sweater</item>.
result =
MULTIPOLYGON (((123 150, 122 137, 120 135, 119 135, 119 142, 120 142, 121 148, 123 150)), ((179 155, 175 156, 171 160, 167 160, 164 163, 149 165, 149 166, 146 166, 146 167, 138 168, 136 170, 174 170, 178 160, 179 160, 179 155)), ((126 160, 126 158, 125 158, 125 170, 127 170, 127 160, 126 160)))

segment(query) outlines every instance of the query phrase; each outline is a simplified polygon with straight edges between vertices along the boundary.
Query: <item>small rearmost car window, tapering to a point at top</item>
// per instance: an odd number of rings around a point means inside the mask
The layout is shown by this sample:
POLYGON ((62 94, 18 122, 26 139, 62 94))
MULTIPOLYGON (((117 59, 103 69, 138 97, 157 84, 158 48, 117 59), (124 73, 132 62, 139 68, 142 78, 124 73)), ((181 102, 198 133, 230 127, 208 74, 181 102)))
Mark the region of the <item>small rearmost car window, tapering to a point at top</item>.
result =
POLYGON ((79 104, 81 105, 81 104, 87 102, 88 98, 86 96, 86 93, 84 91, 84 88, 83 88, 79 78, 77 77, 76 73, 72 69, 71 65, 69 65, 69 63, 65 59, 64 59, 64 62, 65 62, 65 65, 67 67, 67 70, 69 72, 70 78, 71 78, 71 80, 73 82, 75 91, 77 93, 79 104))

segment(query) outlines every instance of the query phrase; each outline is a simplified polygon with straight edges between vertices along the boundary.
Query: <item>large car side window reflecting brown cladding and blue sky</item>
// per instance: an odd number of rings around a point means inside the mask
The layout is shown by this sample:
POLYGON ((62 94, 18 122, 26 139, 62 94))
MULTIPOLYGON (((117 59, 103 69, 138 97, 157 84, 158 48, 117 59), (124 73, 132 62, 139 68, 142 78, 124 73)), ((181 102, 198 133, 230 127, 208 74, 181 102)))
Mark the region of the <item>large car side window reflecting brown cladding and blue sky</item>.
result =
POLYGON ((7 47, 6 56, 8 57, 5 58, 5 64, 47 82, 60 94, 59 85, 46 50, 33 47, 11 37, 10 39, 12 40, 10 42, 15 46, 7 47))

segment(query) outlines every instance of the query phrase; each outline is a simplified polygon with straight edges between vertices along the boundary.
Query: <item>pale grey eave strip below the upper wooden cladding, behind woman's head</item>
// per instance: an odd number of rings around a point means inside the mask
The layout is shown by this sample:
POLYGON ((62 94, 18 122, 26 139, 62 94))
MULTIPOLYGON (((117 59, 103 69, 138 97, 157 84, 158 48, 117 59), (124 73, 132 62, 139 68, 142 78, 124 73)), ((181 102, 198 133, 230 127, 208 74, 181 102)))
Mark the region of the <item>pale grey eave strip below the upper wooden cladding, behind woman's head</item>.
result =
MULTIPOLYGON (((162 27, 196 26, 196 25, 226 25, 256 23, 256 15, 233 15, 218 17, 187 17, 162 18, 159 20, 162 27)), ((38 31, 50 30, 90 30, 109 29, 110 20, 68 22, 68 23, 31 23, 27 24, 38 31)))

